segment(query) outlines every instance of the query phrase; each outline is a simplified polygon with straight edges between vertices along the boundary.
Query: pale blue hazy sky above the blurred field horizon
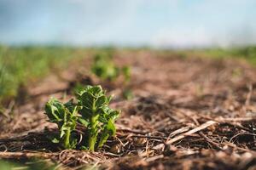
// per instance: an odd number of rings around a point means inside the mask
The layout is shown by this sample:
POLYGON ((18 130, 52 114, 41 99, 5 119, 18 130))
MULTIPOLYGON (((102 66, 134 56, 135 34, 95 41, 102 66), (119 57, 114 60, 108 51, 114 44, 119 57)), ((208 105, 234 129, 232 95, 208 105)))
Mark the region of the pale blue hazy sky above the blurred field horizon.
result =
POLYGON ((255 0, 0 0, 0 43, 256 44, 255 0))

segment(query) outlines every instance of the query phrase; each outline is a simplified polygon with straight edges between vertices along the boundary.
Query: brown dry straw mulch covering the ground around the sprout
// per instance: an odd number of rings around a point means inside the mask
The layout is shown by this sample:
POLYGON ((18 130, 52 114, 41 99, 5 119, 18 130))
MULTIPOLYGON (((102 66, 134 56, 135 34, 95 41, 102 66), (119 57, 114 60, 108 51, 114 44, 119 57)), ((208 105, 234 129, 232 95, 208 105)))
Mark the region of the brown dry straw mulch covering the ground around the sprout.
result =
MULTIPOLYGON (((56 162, 56 169, 256 169, 256 70, 241 60, 186 59, 156 52, 115 53, 131 65, 125 100, 122 80, 101 82, 90 75, 90 58, 52 74, 10 102, 1 116, 0 158, 56 162), (122 113, 116 137, 102 150, 61 150, 47 138, 49 97, 67 101, 72 88, 102 84, 122 113), (18 103, 17 103, 18 102, 18 103)), ((51 165, 49 163, 49 165, 51 165)), ((47 169, 47 167, 45 167, 47 169)))

